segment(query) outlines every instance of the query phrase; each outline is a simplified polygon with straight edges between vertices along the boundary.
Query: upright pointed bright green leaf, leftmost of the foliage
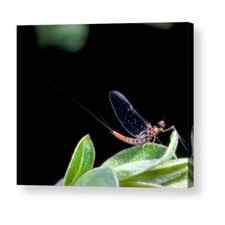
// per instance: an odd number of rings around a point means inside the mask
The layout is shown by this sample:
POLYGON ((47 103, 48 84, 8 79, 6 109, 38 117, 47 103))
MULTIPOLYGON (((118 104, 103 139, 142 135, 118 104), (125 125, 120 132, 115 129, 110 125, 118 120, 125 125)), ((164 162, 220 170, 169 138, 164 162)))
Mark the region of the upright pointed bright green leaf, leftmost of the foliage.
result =
POLYGON ((89 135, 84 136, 77 144, 64 176, 64 185, 73 185, 85 172, 93 168, 95 149, 89 135))

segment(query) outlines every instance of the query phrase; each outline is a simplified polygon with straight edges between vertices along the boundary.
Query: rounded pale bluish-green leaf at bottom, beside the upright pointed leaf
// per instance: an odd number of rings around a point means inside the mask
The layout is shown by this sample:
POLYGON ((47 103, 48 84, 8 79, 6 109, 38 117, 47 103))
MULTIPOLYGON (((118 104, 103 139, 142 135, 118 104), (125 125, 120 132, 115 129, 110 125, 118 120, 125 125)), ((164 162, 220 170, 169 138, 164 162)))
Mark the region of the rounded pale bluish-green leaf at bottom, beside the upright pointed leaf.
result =
POLYGON ((82 175, 75 186, 118 187, 119 181, 110 168, 95 168, 82 175))

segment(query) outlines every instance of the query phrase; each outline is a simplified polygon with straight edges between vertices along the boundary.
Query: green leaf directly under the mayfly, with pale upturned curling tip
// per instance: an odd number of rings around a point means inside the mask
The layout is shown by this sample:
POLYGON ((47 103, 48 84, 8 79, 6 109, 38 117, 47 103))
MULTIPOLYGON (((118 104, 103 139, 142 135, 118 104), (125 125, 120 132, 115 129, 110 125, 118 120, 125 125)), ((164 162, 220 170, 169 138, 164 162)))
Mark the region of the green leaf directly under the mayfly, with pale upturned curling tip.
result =
POLYGON ((147 143, 125 149, 106 160, 102 166, 112 168, 120 181, 148 171, 174 158, 178 144, 178 134, 173 131, 168 147, 147 143))

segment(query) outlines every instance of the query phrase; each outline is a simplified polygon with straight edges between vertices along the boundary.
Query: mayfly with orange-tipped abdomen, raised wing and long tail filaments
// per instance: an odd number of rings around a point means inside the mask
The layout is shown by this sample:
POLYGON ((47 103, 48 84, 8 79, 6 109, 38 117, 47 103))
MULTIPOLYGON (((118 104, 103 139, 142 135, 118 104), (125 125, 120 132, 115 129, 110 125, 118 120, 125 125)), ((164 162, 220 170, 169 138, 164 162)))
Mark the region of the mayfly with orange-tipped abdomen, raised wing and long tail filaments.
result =
POLYGON ((91 116, 93 116, 97 121, 99 121, 104 127, 106 127, 113 136, 127 144, 138 145, 148 142, 155 142, 156 139, 158 139, 158 135, 160 133, 165 133, 175 129, 174 126, 166 128, 166 123, 163 120, 159 121, 157 125, 152 126, 149 121, 143 118, 134 109, 129 100, 119 91, 110 91, 109 100, 117 119, 121 123, 122 127, 132 137, 127 137, 113 130, 103 119, 98 118, 82 104, 78 104, 81 108, 91 114, 91 116))

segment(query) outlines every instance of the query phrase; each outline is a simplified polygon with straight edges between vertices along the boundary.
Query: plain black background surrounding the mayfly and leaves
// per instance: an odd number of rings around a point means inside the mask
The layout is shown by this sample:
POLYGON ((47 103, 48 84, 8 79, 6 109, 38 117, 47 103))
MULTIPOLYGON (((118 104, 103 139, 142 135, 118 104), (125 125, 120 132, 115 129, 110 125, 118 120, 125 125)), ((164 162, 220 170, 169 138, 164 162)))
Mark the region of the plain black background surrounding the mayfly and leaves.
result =
MULTIPOLYGON (((119 90, 152 124, 175 125, 190 149, 193 125, 193 26, 90 25, 77 53, 39 48, 35 27, 18 26, 17 183, 53 185, 89 133, 95 166, 128 145, 84 112, 73 98, 102 115, 117 131, 108 92, 119 90)), ((169 136, 161 137, 167 144, 169 136)), ((182 147, 179 156, 190 156, 182 147)))

